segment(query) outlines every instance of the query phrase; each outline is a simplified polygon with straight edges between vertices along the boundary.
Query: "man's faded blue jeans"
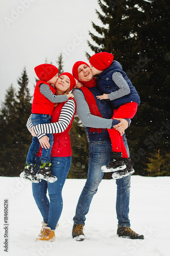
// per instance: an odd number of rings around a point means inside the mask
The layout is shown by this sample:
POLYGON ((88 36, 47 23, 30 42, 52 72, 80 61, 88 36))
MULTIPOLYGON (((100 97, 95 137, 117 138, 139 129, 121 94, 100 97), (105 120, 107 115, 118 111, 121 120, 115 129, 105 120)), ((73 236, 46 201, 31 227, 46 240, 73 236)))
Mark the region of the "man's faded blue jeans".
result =
MULTIPOLYGON (((129 154, 129 148, 124 137, 124 143, 129 154)), ((98 191, 98 186, 102 181, 104 173, 101 170, 102 165, 107 165, 110 162, 110 152, 112 146, 110 141, 91 141, 89 143, 89 167, 85 186, 80 195, 76 215, 73 218, 74 222, 79 225, 85 225, 85 215, 88 213, 90 203, 98 191)), ((117 179, 117 198, 116 198, 116 214, 118 226, 130 227, 129 220, 129 199, 130 199, 130 180, 127 176, 122 179, 117 179)), ((109 207, 109 205, 108 205, 109 207)))

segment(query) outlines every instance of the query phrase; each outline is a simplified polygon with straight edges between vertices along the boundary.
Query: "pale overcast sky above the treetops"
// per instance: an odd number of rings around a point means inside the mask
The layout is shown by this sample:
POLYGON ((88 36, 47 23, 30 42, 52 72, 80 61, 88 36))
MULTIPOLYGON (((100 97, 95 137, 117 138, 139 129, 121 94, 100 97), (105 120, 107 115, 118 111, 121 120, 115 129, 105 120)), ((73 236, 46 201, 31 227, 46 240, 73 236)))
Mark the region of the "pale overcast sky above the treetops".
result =
POLYGON ((18 89, 24 67, 33 94, 34 67, 45 59, 55 63, 62 52, 64 71, 70 73, 76 61, 87 61, 85 52, 93 53, 88 31, 95 32, 92 22, 101 25, 95 9, 101 11, 98 0, 1 0, 0 103, 11 83, 18 89))

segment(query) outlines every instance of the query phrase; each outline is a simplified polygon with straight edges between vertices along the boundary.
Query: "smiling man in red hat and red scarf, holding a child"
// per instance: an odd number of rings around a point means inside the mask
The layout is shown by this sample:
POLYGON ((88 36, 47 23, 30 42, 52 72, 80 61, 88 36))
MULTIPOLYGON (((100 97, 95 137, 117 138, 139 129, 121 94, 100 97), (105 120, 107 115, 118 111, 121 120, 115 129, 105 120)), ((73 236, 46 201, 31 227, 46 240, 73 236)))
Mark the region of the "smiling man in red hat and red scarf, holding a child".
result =
MULTIPOLYGON (((113 109, 109 101, 99 100, 97 95, 103 93, 96 87, 96 79, 93 77, 91 69, 86 62, 77 61, 72 68, 72 74, 82 83, 83 87, 75 89, 72 94, 77 103, 77 115, 85 126, 87 140, 89 142, 89 167, 85 186, 80 195, 74 226, 72 228, 72 238, 77 241, 85 239, 83 226, 85 216, 89 211, 90 203, 98 190, 104 173, 101 170, 103 165, 110 161, 111 141, 107 129, 115 129, 124 132, 128 127, 129 119, 111 119, 113 109), (120 122, 119 122, 120 121, 120 122)), ((129 155, 128 144, 124 135, 124 144, 129 155)), ((117 234, 119 237, 131 239, 144 239, 130 228, 129 220, 129 199, 130 199, 131 176, 117 179, 116 214, 118 220, 117 234)))

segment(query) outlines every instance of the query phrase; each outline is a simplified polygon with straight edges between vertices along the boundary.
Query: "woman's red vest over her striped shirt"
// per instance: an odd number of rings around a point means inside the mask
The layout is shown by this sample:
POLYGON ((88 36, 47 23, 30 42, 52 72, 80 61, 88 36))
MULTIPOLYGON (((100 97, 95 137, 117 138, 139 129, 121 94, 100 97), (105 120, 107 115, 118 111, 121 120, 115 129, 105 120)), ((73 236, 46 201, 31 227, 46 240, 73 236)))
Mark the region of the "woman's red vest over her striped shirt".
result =
MULTIPOLYGON (((70 99, 68 99, 68 100, 70 100, 70 99)), ((64 104, 65 104, 65 102, 61 102, 54 109, 53 114, 52 114, 52 120, 51 120, 52 123, 55 123, 58 121, 60 113, 61 113, 61 109, 64 104)), ((75 104, 76 104, 76 101, 75 101, 75 104)), ((53 134, 54 144, 53 144, 52 151, 51 151, 51 157, 70 157, 72 155, 71 141, 70 141, 70 137, 69 137, 68 133, 71 128, 71 124, 75 117, 75 114, 76 114, 76 110, 75 110, 74 115, 72 116, 70 123, 68 124, 68 126, 64 132, 53 134)), ((37 156, 41 156, 41 149, 40 149, 39 153, 37 154, 37 156)))

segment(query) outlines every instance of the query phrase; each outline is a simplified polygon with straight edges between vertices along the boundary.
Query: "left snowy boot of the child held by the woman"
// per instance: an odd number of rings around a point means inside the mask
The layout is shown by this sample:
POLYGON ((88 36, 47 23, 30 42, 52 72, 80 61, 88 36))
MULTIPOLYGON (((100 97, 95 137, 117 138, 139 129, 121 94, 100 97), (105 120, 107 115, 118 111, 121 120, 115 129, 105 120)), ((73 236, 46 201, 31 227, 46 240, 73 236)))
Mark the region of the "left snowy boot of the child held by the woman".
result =
POLYGON ((23 179, 30 180, 33 183, 39 183, 41 180, 35 176, 35 165, 28 164, 26 162, 25 168, 22 173, 20 173, 20 177, 23 179))

